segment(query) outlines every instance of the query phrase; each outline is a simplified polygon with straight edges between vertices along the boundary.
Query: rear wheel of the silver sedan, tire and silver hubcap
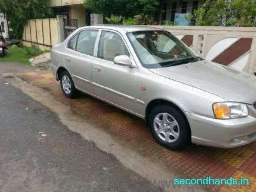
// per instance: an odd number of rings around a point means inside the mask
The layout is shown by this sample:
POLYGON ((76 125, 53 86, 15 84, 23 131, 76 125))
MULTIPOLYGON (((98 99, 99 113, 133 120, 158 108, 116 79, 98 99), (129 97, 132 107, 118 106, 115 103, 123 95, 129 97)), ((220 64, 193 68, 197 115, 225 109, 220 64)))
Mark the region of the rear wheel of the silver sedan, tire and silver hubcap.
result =
POLYGON ((75 98, 78 94, 74 82, 67 71, 63 71, 60 74, 60 87, 63 94, 68 98, 75 98))

